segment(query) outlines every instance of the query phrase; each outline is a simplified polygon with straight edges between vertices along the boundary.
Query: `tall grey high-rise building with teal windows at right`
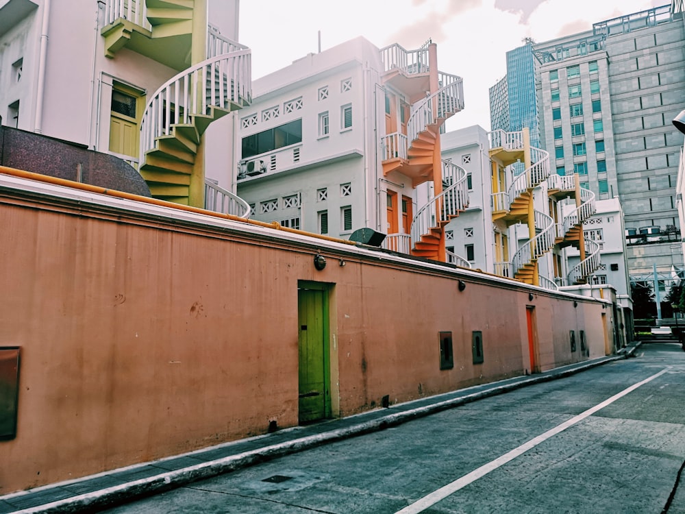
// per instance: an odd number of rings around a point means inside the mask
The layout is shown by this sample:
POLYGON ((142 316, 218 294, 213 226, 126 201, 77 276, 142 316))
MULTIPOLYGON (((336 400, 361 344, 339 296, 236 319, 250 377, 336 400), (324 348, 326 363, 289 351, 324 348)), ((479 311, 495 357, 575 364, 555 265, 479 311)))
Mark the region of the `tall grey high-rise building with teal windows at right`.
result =
MULTIPOLYGON (((506 80, 510 123, 521 117, 512 82, 527 95, 535 90, 538 116, 534 107, 528 114, 539 122, 540 146, 553 169, 578 173, 598 199, 619 197, 632 280, 644 280, 654 266, 660 273, 682 270, 682 252, 673 243, 680 241, 675 178, 683 136, 671 123, 685 98, 682 2, 527 42, 507 53, 506 80), (530 68, 514 56, 528 48, 535 71, 524 82, 530 68)), ((491 110, 501 109, 491 90, 491 110)), ((533 138, 534 121, 530 126, 533 138)))

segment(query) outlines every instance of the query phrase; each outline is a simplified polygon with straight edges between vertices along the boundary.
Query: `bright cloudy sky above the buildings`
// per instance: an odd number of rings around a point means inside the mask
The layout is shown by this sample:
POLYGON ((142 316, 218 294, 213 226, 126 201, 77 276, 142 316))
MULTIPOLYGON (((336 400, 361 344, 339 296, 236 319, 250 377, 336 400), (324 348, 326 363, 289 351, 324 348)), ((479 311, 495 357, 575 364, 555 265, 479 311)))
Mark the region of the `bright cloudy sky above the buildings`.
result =
POLYGON ((447 130, 490 130, 488 88, 506 74, 506 52, 669 0, 242 0, 239 41, 252 51, 252 78, 358 36, 379 48, 437 44, 438 69, 464 79, 465 107, 447 130))

